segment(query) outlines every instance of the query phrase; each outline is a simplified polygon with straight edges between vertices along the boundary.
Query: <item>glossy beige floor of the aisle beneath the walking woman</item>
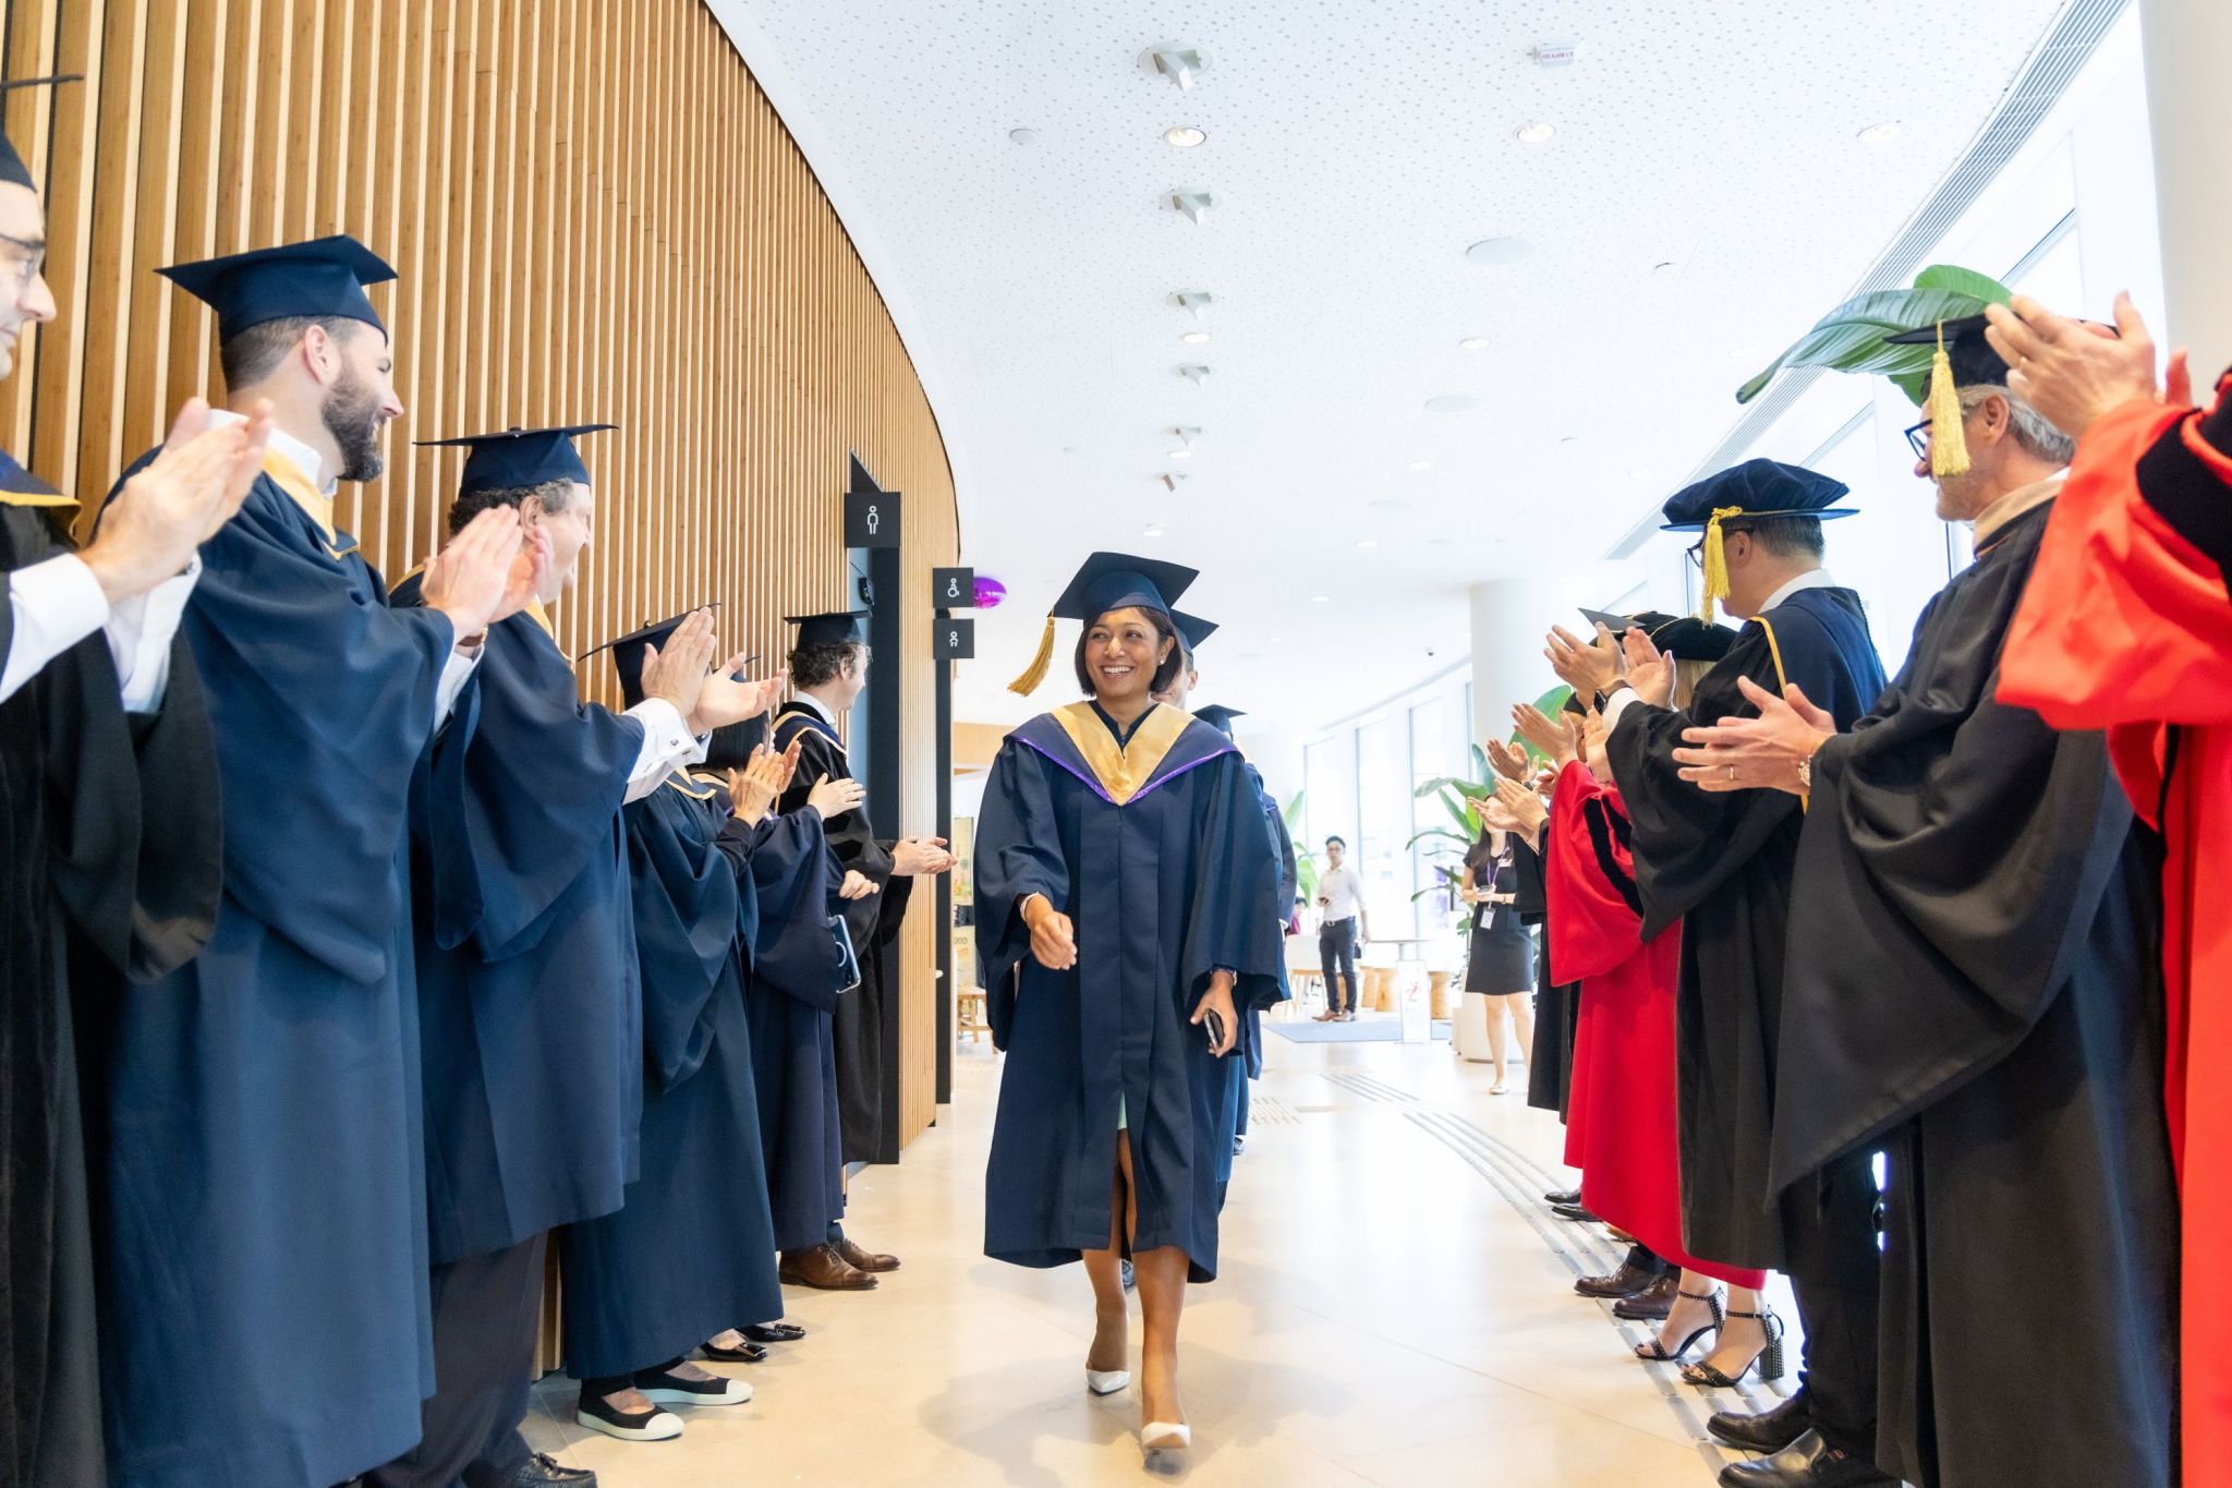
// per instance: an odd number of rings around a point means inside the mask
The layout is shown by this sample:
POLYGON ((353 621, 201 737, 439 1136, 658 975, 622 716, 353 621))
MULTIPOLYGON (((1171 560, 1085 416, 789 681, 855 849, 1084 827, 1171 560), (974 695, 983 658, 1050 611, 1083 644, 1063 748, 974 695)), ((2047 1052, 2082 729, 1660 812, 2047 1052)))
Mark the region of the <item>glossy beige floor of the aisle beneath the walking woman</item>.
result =
POLYGON ((752 1403, 620 1443, 580 1430, 574 1385, 549 1379, 529 1434, 603 1488, 1712 1484, 1730 1457, 1705 1414, 1772 1397, 1629 1359, 1645 1334, 1571 1294, 1616 1247, 1538 1198, 1567 1178, 1558 1122, 1489 1082, 1449 1044, 1272 1040, 1223 1274, 1185 1312, 1183 1466, 1143 1466, 1136 1397, 1087 1397, 1083 1272, 980 1254, 989 1046, 964 1046, 906 1160, 855 1185, 848 1229, 904 1269, 870 1294, 792 1289, 810 1336, 745 1370, 752 1403))

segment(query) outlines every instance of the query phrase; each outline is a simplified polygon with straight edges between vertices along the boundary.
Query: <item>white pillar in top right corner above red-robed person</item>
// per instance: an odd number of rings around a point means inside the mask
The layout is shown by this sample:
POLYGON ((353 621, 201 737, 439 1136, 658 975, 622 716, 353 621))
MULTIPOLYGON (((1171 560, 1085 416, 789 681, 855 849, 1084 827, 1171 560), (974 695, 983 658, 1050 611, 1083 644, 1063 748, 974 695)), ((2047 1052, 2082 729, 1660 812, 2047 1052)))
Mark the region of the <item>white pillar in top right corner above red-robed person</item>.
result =
POLYGON ((2163 230, 2163 337, 2192 348, 2196 393, 2207 397, 2232 364, 2232 190, 2225 190, 2225 78, 2232 76, 2232 4, 2140 0, 2154 199, 2163 230))

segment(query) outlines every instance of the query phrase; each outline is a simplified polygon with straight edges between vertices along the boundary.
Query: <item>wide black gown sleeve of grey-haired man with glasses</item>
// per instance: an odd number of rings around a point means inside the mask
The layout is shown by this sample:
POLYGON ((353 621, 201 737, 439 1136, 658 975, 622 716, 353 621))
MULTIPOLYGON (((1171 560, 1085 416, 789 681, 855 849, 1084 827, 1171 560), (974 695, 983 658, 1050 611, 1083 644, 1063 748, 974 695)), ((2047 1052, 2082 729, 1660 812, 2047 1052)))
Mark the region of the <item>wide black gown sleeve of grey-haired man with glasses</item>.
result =
POLYGON ((1877 709, 1815 756, 1781 1033, 1806 1100, 1774 1111, 1777 1189, 2013 1049, 2118 881, 2105 738, 1993 700, 2045 515, 1931 602, 1877 709))

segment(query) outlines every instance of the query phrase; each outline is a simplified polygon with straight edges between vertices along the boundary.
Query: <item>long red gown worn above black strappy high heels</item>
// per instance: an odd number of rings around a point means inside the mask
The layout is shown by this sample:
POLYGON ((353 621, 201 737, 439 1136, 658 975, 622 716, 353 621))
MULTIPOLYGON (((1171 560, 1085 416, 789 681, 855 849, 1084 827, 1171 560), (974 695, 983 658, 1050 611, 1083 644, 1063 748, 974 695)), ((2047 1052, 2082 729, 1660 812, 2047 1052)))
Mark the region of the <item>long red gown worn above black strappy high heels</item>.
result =
POLYGON ((1567 765, 1551 796, 1545 886, 1549 966, 1580 982, 1574 1100, 1565 1160, 1580 1169, 1580 1202, 1665 1260, 1736 1287, 1745 1272, 1683 1252, 1681 1156, 1674 1138, 1674 979, 1681 930, 1643 944, 1634 857, 1620 792, 1567 765))

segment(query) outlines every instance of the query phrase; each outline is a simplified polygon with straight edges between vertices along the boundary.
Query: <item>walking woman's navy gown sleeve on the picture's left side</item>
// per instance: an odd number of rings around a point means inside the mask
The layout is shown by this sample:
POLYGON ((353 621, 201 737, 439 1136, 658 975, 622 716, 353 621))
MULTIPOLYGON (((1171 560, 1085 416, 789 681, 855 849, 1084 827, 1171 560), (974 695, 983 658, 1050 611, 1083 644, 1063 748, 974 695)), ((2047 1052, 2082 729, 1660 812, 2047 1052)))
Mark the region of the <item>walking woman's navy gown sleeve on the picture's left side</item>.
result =
POLYGON ((984 988, 991 1042, 1002 1051, 1016 1022, 1016 968, 1031 955, 1022 901, 1045 895, 1056 908, 1069 904, 1069 866, 1062 859, 1049 770, 1036 750, 1004 741, 978 812, 978 982, 984 988))

